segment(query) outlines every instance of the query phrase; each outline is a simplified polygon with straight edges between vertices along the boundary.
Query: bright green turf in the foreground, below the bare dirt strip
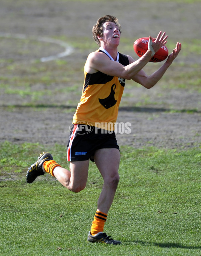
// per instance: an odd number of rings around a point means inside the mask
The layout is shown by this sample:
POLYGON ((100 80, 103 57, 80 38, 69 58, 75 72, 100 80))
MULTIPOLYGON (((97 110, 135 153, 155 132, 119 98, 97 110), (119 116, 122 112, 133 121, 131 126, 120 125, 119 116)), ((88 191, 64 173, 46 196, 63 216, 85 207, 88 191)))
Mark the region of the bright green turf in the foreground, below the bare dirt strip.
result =
POLYGON ((61 145, 1 144, 1 256, 201 254, 201 145, 121 147, 120 183, 105 225, 121 246, 86 242, 102 188, 93 163, 80 193, 48 174, 26 183, 27 167, 43 150, 68 167, 61 145))

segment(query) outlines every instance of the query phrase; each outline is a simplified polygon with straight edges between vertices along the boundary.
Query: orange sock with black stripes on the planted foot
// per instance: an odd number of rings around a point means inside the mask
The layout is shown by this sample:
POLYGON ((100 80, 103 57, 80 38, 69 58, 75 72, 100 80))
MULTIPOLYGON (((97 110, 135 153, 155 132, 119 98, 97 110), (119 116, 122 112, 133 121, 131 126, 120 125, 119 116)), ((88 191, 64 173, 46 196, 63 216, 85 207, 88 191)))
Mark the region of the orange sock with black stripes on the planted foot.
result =
POLYGON ((91 235, 94 236, 98 232, 103 232, 108 214, 101 211, 96 211, 91 225, 91 235))

